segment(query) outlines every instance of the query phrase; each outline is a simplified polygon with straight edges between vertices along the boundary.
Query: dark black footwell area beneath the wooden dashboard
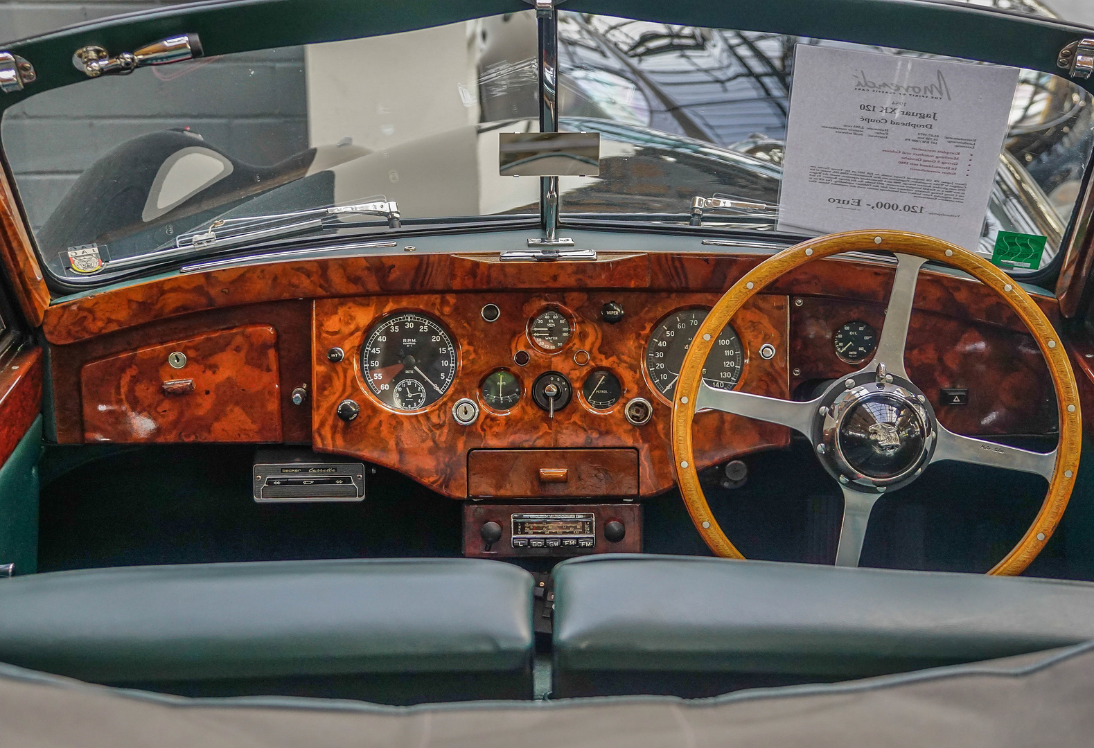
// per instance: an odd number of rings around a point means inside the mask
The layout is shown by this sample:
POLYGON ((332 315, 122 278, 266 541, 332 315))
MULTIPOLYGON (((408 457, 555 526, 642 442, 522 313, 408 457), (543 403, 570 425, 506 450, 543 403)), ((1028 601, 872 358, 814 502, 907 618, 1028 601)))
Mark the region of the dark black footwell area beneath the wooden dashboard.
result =
MULTIPOLYGON (((376 469, 361 503, 256 504, 253 447, 95 449, 50 447, 44 459, 39 571, 461 554, 461 503, 391 470, 376 469), (89 456, 98 458, 81 464, 89 456)), ((745 463, 744 487, 705 486, 730 539, 747 558, 831 563, 842 498, 807 445, 745 463)), ((1045 481, 1036 476, 933 466, 912 486, 878 500, 862 562, 987 571, 1028 527, 1044 491, 1045 481)), ((1091 578, 1091 495, 1076 489, 1061 529, 1029 574, 1091 578)), ((647 500, 643 507, 647 552, 710 554, 676 491, 647 500)), ((533 566, 546 571, 551 563, 533 566)))

